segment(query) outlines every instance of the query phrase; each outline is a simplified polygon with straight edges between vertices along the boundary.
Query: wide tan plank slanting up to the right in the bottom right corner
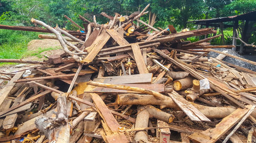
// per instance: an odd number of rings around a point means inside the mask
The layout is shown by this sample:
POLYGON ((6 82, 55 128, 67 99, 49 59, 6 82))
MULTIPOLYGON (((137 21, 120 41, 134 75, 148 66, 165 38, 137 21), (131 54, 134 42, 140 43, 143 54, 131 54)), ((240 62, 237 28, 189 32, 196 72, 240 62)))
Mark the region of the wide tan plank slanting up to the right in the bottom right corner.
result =
MULTIPOLYGON (((250 106, 251 107, 251 106, 250 106)), ((203 132, 196 132, 189 135, 189 139, 196 142, 216 142, 221 136, 223 136, 230 128, 238 123, 248 112, 249 108, 238 108, 232 112, 229 116, 223 118, 223 120, 216 125, 213 129, 207 129, 203 132)))

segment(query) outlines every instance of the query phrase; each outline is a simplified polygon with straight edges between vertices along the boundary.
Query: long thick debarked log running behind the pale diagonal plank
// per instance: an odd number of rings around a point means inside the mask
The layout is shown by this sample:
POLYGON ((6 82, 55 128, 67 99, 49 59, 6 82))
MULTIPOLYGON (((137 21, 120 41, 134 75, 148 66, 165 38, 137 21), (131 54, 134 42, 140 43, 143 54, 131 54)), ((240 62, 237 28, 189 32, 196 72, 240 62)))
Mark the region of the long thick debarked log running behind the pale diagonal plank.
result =
MULTIPOLYGON (((169 108, 180 110, 177 104, 170 97, 163 97, 157 99, 153 95, 140 95, 140 94, 119 94, 116 100, 119 105, 165 105, 169 108)), ((236 108, 233 107, 209 107, 196 103, 191 103, 207 118, 225 118, 230 115, 236 108)), ((256 110, 251 114, 252 117, 256 117, 256 110)))

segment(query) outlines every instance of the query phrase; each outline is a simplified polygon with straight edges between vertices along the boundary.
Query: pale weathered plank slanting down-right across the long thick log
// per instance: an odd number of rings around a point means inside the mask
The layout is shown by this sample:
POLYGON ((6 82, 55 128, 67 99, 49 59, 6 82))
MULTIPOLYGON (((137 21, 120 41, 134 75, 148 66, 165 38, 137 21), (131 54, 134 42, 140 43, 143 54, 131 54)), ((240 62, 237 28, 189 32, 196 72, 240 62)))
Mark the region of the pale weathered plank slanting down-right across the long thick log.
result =
POLYGON ((207 117, 205 117, 203 113, 201 113, 196 107, 190 104, 177 92, 173 91, 172 94, 168 93, 168 95, 186 113, 186 115, 189 117, 190 120, 210 122, 210 120, 207 117))

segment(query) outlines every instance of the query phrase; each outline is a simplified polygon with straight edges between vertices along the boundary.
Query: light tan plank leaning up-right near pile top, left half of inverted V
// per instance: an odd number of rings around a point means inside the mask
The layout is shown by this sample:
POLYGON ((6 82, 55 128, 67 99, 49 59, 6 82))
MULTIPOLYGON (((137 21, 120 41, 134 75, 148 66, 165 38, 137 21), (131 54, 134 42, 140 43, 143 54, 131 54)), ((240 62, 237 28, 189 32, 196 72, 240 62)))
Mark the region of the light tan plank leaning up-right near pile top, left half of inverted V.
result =
POLYGON ((99 53, 99 51, 103 48, 103 46, 108 42, 110 39, 110 35, 106 33, 104 30, 102 33, 95 39, 92 45, 87 49, 89 51, 86 58, 84 58, 81 63, 90 63, 93 61, 95 56, 99 53))

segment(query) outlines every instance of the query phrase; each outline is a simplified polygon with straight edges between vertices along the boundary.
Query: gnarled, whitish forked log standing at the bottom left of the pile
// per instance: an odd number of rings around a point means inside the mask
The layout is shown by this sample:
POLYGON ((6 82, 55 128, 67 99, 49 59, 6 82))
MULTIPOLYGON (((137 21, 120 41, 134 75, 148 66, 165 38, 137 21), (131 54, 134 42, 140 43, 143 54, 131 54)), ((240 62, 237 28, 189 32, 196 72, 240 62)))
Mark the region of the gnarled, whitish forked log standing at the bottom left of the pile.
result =
POLYGON ((55 119, 40 117, 35 120, 36 127, 43 132, 49 142, 69 142, 71 125, 68 123, 66 96, 57 99, 57 113, 55 119), (49 127, 52 128, 49 128, 49 127), (48 127, 48 128, 47 128, 48 127))

